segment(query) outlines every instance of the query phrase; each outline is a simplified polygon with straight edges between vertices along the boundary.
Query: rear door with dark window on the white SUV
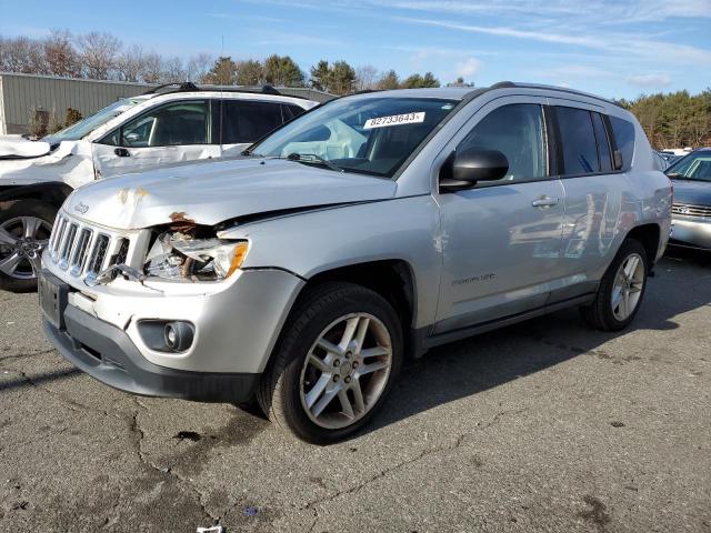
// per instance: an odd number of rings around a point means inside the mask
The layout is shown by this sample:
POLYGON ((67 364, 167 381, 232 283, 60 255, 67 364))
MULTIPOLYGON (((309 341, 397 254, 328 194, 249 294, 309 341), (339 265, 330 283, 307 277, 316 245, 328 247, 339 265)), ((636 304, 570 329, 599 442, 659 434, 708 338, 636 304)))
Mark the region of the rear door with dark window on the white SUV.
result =
POLYGON ((291 117, 291 110, 283 110, 280 102, 222 100, 222 155, 239 155, 291 117))

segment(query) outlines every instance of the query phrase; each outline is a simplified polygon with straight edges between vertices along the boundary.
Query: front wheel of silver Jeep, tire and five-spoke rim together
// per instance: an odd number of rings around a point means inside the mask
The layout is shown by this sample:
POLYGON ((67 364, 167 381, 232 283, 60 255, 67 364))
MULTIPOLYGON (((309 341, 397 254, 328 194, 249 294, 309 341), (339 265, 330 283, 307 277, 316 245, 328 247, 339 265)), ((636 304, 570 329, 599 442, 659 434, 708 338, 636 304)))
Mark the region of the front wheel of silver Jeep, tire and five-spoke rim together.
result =
POLYGON ((400 320, 388 301, 360 285, 327 283, 294 308, 257 398, 270 420, 327 444, 372 418, 401 363, 400 320))

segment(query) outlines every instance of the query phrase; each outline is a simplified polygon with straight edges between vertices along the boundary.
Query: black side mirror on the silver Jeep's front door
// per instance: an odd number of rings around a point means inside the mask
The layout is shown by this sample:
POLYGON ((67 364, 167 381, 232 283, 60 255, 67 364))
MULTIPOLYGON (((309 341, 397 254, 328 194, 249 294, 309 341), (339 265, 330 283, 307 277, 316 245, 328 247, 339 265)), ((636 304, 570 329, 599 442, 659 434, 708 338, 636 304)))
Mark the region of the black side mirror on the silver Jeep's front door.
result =
POLYGON ((509 160, 498 150, 471 148, 452 152, 440 172, 440 188, 445 191, 470 189, 479 181, 500 180, 509 171, 509 160))

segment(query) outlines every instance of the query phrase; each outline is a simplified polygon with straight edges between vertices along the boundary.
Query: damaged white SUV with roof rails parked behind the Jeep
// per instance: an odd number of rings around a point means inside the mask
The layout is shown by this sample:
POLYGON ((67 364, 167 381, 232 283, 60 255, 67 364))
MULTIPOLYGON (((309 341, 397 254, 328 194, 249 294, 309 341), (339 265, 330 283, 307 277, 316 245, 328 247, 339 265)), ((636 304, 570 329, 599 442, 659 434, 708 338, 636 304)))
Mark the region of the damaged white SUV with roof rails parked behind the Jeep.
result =
MULTIPOLYGON (((159 89, 166 89, 161 87, 159 89)), ((127 98, 42 141, 0 142, 0 289, 37 286, 32 261, 72 189, 99 178, 238 155, 317 102, 262 92, 177 90, 127 98)))

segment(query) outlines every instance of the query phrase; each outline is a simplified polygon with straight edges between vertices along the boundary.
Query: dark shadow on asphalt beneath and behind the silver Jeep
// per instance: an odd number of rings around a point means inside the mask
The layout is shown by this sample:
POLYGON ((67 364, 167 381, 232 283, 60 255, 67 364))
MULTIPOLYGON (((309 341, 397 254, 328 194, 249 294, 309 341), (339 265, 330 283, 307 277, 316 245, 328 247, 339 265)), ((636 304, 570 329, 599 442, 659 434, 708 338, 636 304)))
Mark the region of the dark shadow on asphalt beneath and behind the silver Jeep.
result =
POLYGON ((363 432, 377 431, 581 354, 617 360, 600 346, 637 330, 674 330, 679 328, 674 321, 678 314, 711 304, 711 269, 703 265, 711 266, 711 254, 683 251, 681 258, 677 253, 660 261, 640 312, 622 332, 594 331, 572 308, 443 345, 420 360, 405 362, 382 412, 363 432))

